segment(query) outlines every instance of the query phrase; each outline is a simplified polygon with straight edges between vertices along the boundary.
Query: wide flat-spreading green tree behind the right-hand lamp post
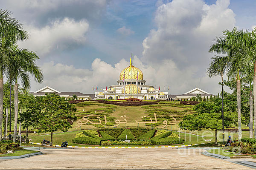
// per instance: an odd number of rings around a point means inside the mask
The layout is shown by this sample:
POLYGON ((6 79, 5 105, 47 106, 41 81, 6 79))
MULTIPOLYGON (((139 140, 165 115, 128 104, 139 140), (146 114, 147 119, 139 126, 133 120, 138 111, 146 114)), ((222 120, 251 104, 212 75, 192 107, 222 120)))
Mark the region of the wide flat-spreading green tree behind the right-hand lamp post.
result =
MULTIPOLYGON (((236 123, 236 113, 225 112, 225 125, 236 123)), ((218 144, 217 131, 222 128, 221 113, 194 113, 184 116, 179 126, 183 130, 215 130, 215 144, 218 144)))

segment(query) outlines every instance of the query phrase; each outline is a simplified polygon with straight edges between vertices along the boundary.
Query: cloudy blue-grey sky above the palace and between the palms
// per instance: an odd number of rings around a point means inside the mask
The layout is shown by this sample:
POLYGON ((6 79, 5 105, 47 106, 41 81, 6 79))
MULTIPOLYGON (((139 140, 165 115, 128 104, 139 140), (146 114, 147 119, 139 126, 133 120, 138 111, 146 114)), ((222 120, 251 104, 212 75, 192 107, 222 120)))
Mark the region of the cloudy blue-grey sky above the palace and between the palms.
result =
POLYGON ((221 90, 220 77, 208 78, 212 40, 234 26, 256 26, 255 0, 6 0, 3 9, 23 23, 36 51, 44 82, 31 91, 92 93, 115 85, 123 68, 143 71, 146 84, 169 94, 198 87, 221 90))

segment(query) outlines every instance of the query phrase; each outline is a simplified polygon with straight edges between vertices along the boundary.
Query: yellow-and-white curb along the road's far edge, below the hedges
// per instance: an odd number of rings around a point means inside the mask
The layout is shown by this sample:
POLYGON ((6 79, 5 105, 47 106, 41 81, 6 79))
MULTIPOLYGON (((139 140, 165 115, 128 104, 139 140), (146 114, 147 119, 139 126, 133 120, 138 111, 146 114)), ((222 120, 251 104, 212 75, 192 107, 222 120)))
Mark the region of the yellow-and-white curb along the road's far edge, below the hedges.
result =
MULTIPOLYGON (((40 143, 33 143, 30 142, 30 144, 39 144, 44 146, 43 144, 40 143)), ((201 143, 204 144, 204 143, 201 143)), ((189 144, 189 145, 177 145, 177 146, 67 146, 67 147, 72 147, 72 148, 160 148, 160 147, 189 147, 189 146, 194 146, 198 144, 189 144)), ((58 144, 52 144, 52 146, 55 147, 61 147, 61 145, 58 144)))

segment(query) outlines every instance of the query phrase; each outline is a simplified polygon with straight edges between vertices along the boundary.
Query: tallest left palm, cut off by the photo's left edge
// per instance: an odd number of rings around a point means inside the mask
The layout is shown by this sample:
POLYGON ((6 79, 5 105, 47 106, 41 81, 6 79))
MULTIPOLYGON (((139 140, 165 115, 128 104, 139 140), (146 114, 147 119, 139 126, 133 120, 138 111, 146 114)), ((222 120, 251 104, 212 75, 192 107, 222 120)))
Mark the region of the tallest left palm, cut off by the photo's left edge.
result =
MULTIPOLYGON (((3 75, 6 69, 6 48, 17 40, 26 40, 27 32, 19 21, 10 17, 11 12, 0 9, 0 127, 3 123, 3 75)), ((0 128, 2 141, 2 128, 0 128)))

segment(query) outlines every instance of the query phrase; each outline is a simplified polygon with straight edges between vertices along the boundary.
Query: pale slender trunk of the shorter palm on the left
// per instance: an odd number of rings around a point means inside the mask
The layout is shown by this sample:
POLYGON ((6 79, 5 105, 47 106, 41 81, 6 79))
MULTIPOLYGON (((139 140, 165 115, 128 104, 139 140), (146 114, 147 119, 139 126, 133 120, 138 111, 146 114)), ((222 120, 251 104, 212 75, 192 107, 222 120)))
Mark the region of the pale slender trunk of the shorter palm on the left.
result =
POLYGON ((17 83, 17 80, 16 80, 15 85, 14 85, 14 132, 13 132, 13 142, 16 142, 17 123, 18 123, 18 83, 17 83))

